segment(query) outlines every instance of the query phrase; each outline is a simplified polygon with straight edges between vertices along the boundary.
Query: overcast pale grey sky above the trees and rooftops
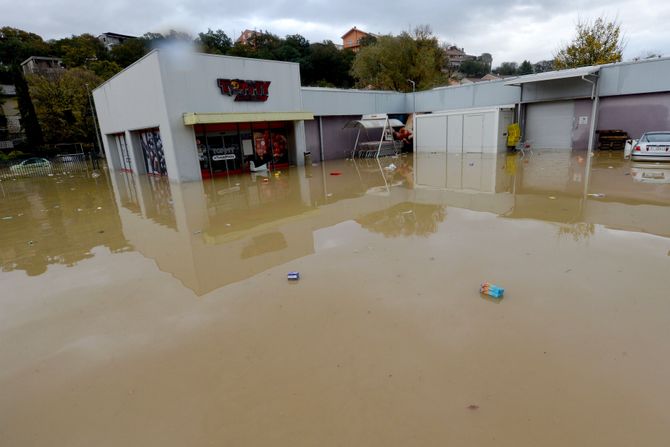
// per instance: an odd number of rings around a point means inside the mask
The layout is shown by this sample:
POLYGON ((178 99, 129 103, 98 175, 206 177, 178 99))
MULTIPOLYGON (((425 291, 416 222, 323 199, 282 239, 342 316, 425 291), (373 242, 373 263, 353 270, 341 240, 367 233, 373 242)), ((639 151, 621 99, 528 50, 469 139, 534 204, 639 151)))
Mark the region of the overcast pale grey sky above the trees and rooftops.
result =
POLYGON ((491 53, 494 66, 551 59, 570 41, 580 18, 604 15, 622 24, 624 59, 648 52, 670 56, 667 0, 0 0, 0 11, 1 26, 45 39, 106 31, 139 36, 171 28, 193 35, 222 29, 235 39, 249 28, 342 43, 352 26, 398 34, 428 24, 441 41, 469 54, 491 53))

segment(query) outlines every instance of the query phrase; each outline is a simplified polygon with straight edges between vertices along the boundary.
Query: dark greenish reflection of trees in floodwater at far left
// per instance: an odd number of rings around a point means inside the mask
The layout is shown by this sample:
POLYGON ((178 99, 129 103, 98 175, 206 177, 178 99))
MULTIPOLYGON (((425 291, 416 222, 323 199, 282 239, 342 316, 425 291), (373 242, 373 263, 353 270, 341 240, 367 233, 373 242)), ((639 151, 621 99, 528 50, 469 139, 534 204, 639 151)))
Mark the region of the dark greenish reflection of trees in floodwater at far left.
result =
POLYGON ((92 258, 95 247, 112 253, 131 249, 104 176, 2 182, 0 197, 3 271, 36 276, 50 265, 73 266, 92 258))

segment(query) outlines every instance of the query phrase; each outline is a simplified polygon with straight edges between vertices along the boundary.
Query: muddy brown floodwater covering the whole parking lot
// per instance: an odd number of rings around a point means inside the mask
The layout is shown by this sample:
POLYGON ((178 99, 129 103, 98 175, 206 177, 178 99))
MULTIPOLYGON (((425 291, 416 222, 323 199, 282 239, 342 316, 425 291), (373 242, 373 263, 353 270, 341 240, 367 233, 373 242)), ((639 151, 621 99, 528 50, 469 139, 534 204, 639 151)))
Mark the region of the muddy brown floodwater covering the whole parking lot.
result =
POLYGON ((670 439, 670 166, 7 180, 0 259, 2 446, 670 439))

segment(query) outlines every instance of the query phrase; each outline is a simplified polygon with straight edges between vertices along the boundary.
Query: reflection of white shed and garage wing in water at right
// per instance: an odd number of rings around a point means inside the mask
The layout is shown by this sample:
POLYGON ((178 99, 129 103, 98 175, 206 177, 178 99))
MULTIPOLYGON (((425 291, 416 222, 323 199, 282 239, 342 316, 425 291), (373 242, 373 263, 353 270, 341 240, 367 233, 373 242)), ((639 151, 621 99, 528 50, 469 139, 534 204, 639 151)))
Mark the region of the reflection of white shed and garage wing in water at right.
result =
POLYGON ((618 153, 592 160, 565 151, 426 155, 416 157, 415 167, 419 202, 554 222, 560 234, 578 239, 592 235, 593 225, 670 236, 670 185, 640 182, 642 168, 618 153))

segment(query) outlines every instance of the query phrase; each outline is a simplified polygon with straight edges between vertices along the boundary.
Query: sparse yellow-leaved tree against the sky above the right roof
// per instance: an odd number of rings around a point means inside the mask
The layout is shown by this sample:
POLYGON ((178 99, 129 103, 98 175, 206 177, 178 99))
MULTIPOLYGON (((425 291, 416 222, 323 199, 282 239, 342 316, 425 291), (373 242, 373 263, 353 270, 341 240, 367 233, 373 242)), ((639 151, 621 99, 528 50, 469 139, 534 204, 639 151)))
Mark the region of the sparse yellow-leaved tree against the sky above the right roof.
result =
POLYGON ((579 21, 577 35, 554 56, 554 68, 583 67, 587 65, 620 62, 623 54, 621 25, 598 17, 594 21, 579 21))

